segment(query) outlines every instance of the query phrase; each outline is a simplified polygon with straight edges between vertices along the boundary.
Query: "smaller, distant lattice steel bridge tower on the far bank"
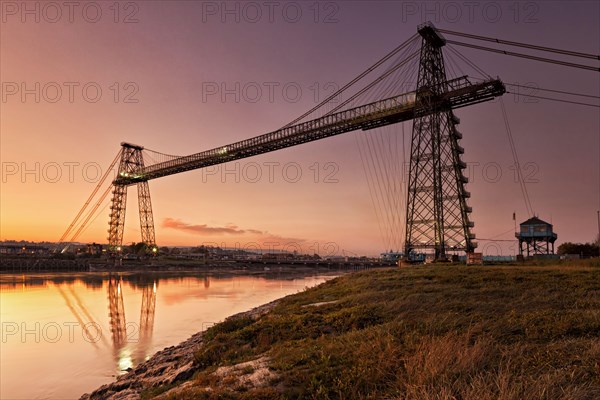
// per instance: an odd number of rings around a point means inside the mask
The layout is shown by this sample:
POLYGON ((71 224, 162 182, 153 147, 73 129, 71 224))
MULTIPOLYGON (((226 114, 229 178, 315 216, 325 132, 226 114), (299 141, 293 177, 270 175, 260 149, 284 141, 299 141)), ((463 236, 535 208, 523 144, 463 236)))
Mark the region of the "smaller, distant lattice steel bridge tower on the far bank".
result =
MULTIPOLYGON (((125 228, 125 208, 127 206, 127 188, 129 185, 122 183, 119 178, 139 178, 136 174, 144 168, 142 150, 144 150, 142 146, 125 142, 121 143, 121 161, 119 163, 117 179, 113 182, 113 197, 109 215, 108 247, 111 252, 121 251, 123 230, 125 228)), ((156 251, 154 218, 152 216, 152 202, 150 201, 148 181, 138 181, 137 192, 142 243, 146 244, 152 251, 156 251)))

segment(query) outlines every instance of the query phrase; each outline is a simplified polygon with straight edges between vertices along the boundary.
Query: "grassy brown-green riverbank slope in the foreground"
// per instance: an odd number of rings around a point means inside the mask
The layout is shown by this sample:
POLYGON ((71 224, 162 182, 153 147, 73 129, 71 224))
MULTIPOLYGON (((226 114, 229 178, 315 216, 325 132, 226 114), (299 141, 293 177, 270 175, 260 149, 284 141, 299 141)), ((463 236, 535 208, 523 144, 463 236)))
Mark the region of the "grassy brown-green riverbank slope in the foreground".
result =
POLYGON ((144 397, 596 399, 600 268, 365 271, 204 340, 190 381, 144 397))

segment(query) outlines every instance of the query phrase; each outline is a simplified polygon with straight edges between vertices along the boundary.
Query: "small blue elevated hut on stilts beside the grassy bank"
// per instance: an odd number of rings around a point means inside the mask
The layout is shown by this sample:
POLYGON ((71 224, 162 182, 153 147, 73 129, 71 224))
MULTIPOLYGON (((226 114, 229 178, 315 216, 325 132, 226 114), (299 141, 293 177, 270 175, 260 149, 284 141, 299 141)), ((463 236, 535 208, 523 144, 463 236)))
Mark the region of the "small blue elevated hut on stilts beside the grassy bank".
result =
POLYGON ((519 232, 515 233, 515 236, 519 239, 520 255, 523 255, 524 250, 527 257, 554 254, 554 242, 558 236, 553 232, 552 224, 538 217, 532 217, 522 222, 519 227, 519 232))

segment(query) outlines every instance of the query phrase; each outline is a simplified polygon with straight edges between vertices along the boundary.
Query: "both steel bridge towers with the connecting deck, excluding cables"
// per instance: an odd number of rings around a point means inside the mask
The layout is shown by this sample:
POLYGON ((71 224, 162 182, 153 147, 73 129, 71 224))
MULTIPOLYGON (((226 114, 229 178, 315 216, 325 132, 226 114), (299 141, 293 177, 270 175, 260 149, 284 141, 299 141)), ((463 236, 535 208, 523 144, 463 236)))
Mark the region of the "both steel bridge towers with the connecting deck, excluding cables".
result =
MULTIPOLYGON (((466 199, 468 179, 461 160, 461 133, 452 110, 481 103, 505 93, 499 79, 472 83, 466 76, 447 79, 442 47, 445 39, 432 24, 418 28, 422 43, 415 92, 404 93, 348 108, 243 141, 189 156, 166 156, 145 165, 144 148, 122 143, 118 174, 113 181, 109 223, 109 249, 119 252, 123 242, 127 188, 137 185, 142 242, 156 251, 148 181, 184 171, 222 164, 302 143, 414 120, 408 200, 406 203, 405 254, 429 249, 437 259, 449 250, 473 251, 476 243, 466 199)), ((159 154, 159 153, 157 153, 159 154)))

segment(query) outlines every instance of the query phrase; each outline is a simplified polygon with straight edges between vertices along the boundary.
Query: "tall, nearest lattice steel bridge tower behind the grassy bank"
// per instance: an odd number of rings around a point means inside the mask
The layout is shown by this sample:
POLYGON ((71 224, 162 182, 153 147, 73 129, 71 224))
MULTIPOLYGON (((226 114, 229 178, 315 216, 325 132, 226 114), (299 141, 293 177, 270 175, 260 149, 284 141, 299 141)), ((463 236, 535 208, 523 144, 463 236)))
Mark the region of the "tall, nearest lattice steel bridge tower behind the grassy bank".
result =
POLYGON ((458 144, 460 120, 449 102, 440 101, 450 90, 442 55, 446 40, 429 23, 418 32, 422 45, 416 104, 423 107, 415 115, 411 137, 405 255, 428 249, 436 260, 445 260, 448 250, 472 252, 476 247, 463 175, 467 165, 458 144))

